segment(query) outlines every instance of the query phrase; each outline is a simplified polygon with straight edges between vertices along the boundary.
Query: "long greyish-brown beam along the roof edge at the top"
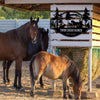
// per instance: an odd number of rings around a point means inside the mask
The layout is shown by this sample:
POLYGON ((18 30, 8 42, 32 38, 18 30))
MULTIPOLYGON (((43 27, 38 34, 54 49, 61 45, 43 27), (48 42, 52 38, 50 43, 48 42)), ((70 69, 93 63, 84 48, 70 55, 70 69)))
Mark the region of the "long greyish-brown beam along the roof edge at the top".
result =
POLYGON ((5 4, 100 3, 100 0, 5 0, 5 4))

